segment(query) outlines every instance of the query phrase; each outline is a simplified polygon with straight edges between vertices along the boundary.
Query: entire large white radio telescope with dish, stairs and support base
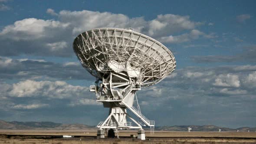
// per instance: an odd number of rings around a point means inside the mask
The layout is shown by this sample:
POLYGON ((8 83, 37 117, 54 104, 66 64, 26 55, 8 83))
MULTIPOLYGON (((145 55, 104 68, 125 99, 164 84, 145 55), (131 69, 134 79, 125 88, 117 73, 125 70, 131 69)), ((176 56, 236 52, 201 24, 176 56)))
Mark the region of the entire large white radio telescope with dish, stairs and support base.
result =
MULTIPOLYGON (((138 137, 144 139, 141 124, 128 115, 128 108, 154 133, 154 121, 142 115, 133 101, 136 98, 138 103, 135 92, 141 87, 155 85, 174 71, 176 60, 171 51, 149 36, 116 28, 81 33, 75 38, 73 49, 82 66, 97 79, 90 91, 95 92, 98 102, 110 108, 108 118, 97 127, 138 128, 138 137), (137 126, 132 126, 127 117, 137 126)), ((98 131, 99 137, 104 137, 102 131, 98 131)))

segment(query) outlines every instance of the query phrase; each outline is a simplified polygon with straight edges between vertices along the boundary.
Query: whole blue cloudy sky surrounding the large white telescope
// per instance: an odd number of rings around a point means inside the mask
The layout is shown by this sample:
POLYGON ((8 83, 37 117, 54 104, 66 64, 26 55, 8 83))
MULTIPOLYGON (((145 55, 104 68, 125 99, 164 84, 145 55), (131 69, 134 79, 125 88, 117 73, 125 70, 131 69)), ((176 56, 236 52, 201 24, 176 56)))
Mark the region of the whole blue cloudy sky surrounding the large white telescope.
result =
MULTIPOLYGON (((255 0, 0 0, 0 119, 97 125, 108 108, 72 42, 100 27, 133 28, 177 61, 137 92, 156 126, 256 127, 255 0)), ((133 117, 136 117, 133 115, 133 117)))

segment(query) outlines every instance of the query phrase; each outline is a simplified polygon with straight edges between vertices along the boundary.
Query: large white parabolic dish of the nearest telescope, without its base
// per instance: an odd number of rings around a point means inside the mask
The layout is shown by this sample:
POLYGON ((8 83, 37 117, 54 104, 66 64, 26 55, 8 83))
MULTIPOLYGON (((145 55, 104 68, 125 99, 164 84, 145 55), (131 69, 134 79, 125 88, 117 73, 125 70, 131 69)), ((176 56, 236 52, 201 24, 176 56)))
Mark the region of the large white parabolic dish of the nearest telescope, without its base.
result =
POLYGON ((73 49, 82 66, 98 79, 114 71, 145 87, 157 84, 176 67, 173 54, 163 44, 128 29, 86 31, 75 38, 73 49))

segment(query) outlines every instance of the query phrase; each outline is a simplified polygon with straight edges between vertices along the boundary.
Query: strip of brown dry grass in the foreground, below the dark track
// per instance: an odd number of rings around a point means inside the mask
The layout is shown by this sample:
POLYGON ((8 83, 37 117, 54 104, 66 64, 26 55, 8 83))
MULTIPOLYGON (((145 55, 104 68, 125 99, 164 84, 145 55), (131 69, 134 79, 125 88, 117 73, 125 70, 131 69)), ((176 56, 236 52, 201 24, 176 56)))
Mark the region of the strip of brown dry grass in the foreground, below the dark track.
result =
POLYGON ((0 139, 0 144, 255 144, 255 140, 226 140, 226 139, 0 139))

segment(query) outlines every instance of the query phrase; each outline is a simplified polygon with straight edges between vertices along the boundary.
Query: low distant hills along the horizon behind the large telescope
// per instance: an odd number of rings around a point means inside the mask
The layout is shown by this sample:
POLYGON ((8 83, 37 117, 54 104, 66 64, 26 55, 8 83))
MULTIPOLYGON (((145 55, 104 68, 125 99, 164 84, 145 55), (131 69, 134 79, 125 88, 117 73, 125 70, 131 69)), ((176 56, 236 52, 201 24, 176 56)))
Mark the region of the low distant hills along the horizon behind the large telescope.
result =
MULTIPOLYGON (((215 125, 174 125, 155 127, 155 131, 187 131, 187 128, 192 128, 192 131, 256 131, 256 128, 242 127, 237 129, 217 127, 215 125)), ((95 126, 85 124, 61 124, 49 121, 42 122, 20 122, 20 121, 3 121, 0 120, 0 129, 6 130, 97 130, 95 126)), ((146 130, 149 128, 145 128, 146 130)))

